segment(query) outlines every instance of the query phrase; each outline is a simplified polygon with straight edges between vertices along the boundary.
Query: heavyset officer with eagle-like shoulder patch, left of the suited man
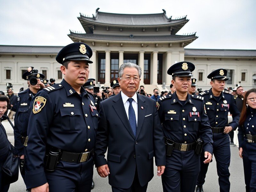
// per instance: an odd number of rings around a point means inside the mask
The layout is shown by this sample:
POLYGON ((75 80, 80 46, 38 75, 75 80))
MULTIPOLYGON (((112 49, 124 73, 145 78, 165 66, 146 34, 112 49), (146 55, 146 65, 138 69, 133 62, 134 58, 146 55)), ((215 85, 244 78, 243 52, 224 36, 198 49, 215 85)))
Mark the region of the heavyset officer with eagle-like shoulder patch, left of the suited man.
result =
POLYGON ((89 76, 92 49, 72 43, 56 60, 65 75, 31 102, 26 186, 31 191, 91 191, 92 153, 99 113, 82 87, 89 76))

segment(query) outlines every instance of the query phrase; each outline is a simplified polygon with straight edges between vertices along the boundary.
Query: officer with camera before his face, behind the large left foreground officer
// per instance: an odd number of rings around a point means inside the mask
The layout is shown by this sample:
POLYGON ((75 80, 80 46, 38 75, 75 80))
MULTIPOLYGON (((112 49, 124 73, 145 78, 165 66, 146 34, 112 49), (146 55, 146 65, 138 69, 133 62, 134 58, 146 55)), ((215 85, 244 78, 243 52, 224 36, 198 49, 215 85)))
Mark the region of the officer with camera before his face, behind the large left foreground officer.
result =
POLYGON ((20 173, 25 182, 25 169, 24 169, 24 146, 27 146, 27 129, 29 119, 29 106, 33 97, 38 90, 44 87, 42 79, 43 74, 38 73, 38 70, 28 68, 28 71, 22 75, 22 78, 28 81, 34 81, 30 83, 28 89, 19 92, 17 97, 17 110, 14 118, 14 155, 20 156, 20 173))

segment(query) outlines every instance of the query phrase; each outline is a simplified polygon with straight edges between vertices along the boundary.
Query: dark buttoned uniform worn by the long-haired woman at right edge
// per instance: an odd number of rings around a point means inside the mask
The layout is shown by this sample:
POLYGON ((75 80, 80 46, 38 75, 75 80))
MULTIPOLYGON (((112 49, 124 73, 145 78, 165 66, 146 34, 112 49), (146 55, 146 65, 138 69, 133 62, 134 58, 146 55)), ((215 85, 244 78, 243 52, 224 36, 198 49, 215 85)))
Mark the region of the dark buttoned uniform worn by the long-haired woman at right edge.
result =
POLYGON ((244 180, 246 192, 256 191, 256 110, 248 106, 247 116, 238 127, 239 148, 243 148, 244 180), (252 136, 253 137, 252 137, 252 136))

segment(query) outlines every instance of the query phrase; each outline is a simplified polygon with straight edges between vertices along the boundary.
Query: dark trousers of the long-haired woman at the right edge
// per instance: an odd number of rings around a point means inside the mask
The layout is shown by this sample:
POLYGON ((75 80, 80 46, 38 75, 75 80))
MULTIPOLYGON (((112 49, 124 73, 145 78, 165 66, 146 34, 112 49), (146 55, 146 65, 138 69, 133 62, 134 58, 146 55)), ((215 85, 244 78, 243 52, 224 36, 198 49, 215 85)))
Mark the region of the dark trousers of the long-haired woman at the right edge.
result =
POLYGON ((246 192, 256 191, 256 161, 243 156, 243 164, 246 192))

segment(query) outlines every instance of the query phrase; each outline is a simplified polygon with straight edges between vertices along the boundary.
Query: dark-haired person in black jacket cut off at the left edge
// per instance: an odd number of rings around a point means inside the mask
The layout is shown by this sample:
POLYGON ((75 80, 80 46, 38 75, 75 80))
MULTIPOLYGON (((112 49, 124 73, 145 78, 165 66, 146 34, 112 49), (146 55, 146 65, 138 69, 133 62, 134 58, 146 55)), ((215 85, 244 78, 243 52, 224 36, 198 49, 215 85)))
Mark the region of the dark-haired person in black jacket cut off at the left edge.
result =
POLYGON ((9 105, 8 97, 4 95, 0 95, 0 191, 7 192, 10 184, 6 184, 4 181, 4 172, 2 170, 3 164, 9 154, 9 141, 6 135, 6 131, 4 126, 2 125, 2 116, 7 110, 7 106, 9 105))

